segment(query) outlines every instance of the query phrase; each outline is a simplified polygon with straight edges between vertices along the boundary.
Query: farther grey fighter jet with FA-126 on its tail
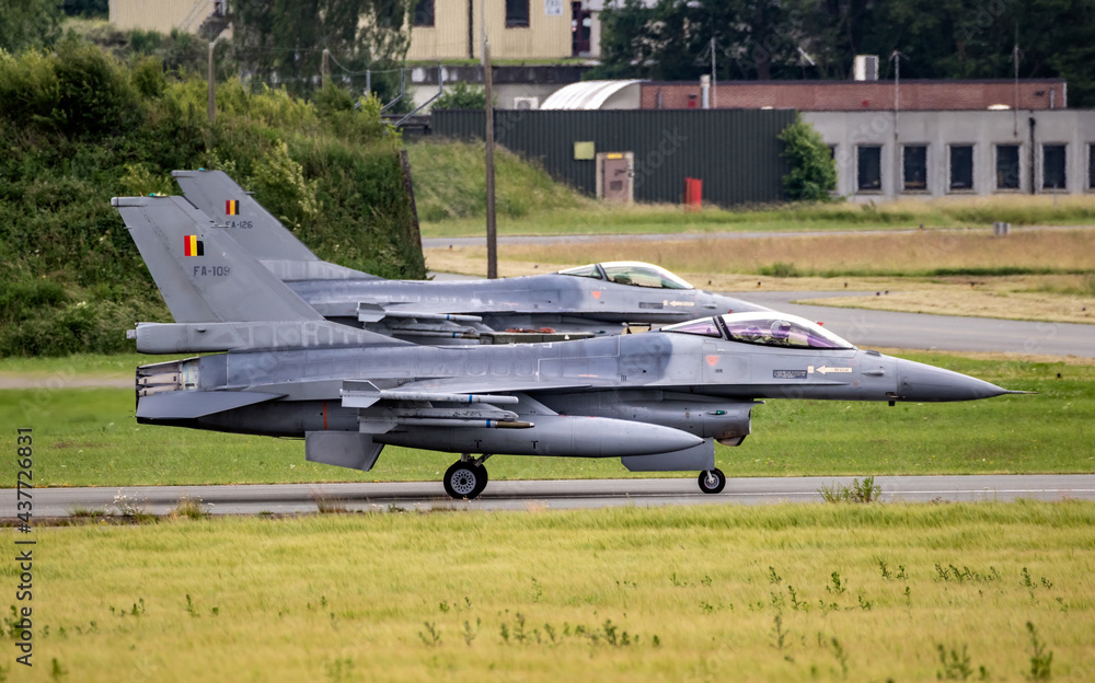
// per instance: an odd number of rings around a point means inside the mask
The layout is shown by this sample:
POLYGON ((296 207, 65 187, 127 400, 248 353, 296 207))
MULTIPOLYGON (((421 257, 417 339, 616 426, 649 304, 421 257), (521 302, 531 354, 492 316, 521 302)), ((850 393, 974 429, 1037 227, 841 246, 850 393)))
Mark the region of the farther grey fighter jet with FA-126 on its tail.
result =
MULTIPOLYGON (((698 290, 644 263, 590 264, 498 280, 387 280, 320 261, 223 171, 173 172, 186 199, 326 319, 427 344, 475 344, 482 333, 620 334, 627 324, 679 323, 769 309, 698 290)), ((197 322, 172 315, 180 323, 197 322)))

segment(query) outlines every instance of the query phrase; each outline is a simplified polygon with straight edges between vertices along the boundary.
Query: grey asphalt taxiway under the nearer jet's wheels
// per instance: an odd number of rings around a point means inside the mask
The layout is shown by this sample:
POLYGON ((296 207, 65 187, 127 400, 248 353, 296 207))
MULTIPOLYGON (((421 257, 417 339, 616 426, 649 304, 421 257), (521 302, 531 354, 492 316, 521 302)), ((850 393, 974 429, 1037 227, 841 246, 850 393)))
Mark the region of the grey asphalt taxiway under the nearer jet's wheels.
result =
MULTIPOLYGON (((1095 500, 1095 475, 879 476, 880 500, 889 502, 1095 500)), ((568 479, 492 482, 475 500, 452 500, 437 482, 275 484, 231 486, 124 486, 38 488, 34 517, 118 513, 119 503, 165 514, 191 498, 212 514, 300 514, 326 510, 542 510, 619 506, 771 505, 817 502, 822 486, 849 486, 852 477, 730 478, 722 494, 700 493, 694 477, 664 479, 568 479)), ((0 496, 0 518, 15 517, 14 490, 0 496)))

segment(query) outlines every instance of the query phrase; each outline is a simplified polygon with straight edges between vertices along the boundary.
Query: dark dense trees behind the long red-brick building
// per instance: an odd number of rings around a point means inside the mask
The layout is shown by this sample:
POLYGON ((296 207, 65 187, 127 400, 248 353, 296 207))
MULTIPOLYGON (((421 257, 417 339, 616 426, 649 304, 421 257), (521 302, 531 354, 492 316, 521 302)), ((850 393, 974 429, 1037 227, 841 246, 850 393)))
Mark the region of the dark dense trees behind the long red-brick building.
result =
POLYGON ((881 78, 1064 78, 1071 106, 1095 105, 1090 0, 627 0, 602 14, 602 63, 588 78, 846 79, 855 55, 881 78), (803 57, 805 51, 814 65, 803 57))

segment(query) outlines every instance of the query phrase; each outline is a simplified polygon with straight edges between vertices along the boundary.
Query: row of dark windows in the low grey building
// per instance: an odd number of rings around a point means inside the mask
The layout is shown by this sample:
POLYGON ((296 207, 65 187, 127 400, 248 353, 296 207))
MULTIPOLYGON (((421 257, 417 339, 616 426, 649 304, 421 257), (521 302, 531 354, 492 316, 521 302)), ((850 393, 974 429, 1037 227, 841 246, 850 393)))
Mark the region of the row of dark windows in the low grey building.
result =
MULTIPOLYGON (((995 185, 996 189, 1019 188, 1018 144, 996 144, 995 185)), ((1065 144, 1041 146, 1042 189, 1065 189, 1065 144)), ((835 154, 835 148, 830 148, 835 154)), ((904 144, 901 147, 902 192, 927 192, 927 146, 904 144)), ((947 146, 948 164, 947 189, 964 192, 973 189, 973 146, 947 146)), ((860 192, 880 192, 883 188, 881 147, 877 144, 856 148, 856 186, 860 192)), ((1087 146, 1087 188, 1095 189, 1095 144, 1087 146)))

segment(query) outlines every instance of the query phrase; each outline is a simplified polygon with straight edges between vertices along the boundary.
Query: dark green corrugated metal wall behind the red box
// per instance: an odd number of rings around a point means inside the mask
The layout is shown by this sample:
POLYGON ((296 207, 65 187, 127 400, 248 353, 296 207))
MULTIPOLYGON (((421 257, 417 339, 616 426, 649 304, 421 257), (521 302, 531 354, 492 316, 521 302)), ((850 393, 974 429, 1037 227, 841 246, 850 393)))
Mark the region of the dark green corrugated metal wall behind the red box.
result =
MULTIPOLYGON (((575 159, 576 142, 592 142, 597 153, 632 152, 638 201, 681 202, 692 177, 703 181, 704 201, 730 206, 783 199, 791 169, 776 136, 794 121, 793 109, 507 109, 495 112, 494 129, 499 144, 589 195, 596 162, 575 159)), ((430 127, 435 136, 482 139, 483 112, 435 112, 430 127)))

